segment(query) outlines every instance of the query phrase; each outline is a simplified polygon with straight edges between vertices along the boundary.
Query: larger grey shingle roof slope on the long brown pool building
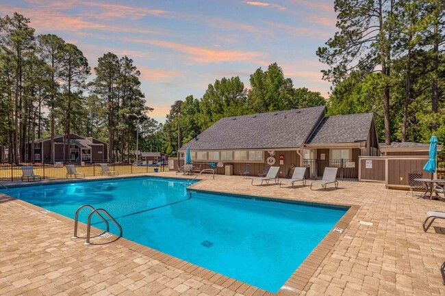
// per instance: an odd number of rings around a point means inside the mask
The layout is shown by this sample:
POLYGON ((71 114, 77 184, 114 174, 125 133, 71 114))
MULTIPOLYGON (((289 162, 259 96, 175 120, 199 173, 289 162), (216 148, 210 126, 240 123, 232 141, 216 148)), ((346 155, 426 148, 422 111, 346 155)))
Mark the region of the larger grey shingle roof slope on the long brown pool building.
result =
POLYGON ((320 106, 222 118, 180 150, 297 148, 324 114, 320 106))

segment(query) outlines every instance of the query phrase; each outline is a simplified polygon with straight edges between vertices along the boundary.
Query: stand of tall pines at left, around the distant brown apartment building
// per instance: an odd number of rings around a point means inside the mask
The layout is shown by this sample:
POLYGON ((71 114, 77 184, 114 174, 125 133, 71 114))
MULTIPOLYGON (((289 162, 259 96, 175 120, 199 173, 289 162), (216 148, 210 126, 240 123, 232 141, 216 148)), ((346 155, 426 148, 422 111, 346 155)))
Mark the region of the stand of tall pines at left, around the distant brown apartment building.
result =
MULTIPOLYGON (((21 14, 0 17, 0 144, 14 163, 34 161, 34 141, 77 133, 110 142, 112 161, 134 150, 138 124, 147 117, 140 72, 127 57, 106 53, 94 68, 84 53, 53 34, 35 36, 21 14), (31 145, 28 145, 31 143, 31 145), (29 156, 28 156, 29 155, 29 156)), ((64 159, 69 159, 66 145, 64 159)), ((51 150, 51 159, 54 153, 51 150)))

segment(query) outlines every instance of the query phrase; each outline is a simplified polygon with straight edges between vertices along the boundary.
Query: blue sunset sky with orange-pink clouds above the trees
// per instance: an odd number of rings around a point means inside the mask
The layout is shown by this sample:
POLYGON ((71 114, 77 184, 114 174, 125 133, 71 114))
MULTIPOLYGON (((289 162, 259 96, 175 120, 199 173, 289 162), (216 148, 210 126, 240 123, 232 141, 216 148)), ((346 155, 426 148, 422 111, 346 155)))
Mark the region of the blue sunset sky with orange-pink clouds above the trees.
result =
POLYGON ((2 0, 40 33, 84 51, 90 66, 108 51, 128 55, 141 72, 150 114, 160 122, 175 100, 201 98, 207 85, 277 62, 296 88, 327 97, 316 49, 335 32, 333 0, 2 0))

